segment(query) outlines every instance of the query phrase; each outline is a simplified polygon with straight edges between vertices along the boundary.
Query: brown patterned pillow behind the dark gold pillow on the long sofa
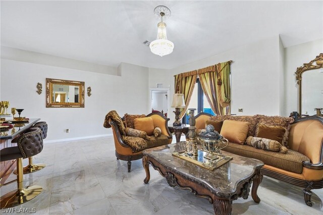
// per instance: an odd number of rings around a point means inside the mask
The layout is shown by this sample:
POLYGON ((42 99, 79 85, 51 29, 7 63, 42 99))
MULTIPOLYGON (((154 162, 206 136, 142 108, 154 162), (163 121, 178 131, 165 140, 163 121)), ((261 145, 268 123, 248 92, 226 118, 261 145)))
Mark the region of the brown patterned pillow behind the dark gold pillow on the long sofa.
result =
POLYGON ((294 122, 294 118, 292 117, 279 117, 279 116, 263 116, 263 115, 256 115, 259 118, 259 123, 266 126, 282 126, 286 129, 285 135, 283 137, 282 145, 287 146, 289 129, 291 124, 294 122))

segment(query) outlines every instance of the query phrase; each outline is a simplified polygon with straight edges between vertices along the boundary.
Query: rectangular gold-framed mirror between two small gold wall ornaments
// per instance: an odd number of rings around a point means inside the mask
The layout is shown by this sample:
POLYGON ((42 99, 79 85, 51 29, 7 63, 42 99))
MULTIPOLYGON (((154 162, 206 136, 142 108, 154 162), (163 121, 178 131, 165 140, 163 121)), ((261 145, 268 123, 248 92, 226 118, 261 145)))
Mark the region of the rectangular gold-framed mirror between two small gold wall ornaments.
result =
POLYGON ((84 82, 46 78, 46 108, 84 108, 84 82))

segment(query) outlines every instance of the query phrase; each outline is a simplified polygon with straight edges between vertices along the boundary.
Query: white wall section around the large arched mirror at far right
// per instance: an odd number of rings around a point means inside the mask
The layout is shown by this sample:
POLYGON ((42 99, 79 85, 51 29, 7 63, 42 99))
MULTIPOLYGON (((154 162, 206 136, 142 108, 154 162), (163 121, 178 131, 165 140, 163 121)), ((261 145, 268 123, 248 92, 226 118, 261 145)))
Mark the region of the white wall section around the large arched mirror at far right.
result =
POLYGON ((295 76, 297 68, 315 59, 319 53, 323 53, 323 38, 285 48, 284 116, 298 111, 298 84, 295 76))

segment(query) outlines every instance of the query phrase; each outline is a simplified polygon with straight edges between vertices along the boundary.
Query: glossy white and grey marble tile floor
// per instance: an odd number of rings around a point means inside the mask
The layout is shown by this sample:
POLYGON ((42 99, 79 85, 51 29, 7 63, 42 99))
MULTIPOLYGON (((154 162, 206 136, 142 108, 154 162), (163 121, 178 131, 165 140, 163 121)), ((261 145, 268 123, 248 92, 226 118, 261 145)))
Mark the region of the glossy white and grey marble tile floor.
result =
MULTIPOLYGON (((113 137, 45 143, 34 163, 45 163, 46 168, 24 175, 25 186, 40 185, 43 191, 17 210, 35 208, 36 214, 214 214, 207 200, 170 187, 151 167, 145 185, 141 160, 133 161, 128 173, 127 162, 116 159, 114 148, 113 137)), ((27 162, 25 159, 24 165, 27 162)), ((16 186, 2 187, 1 195, 16 186)), ((264 176, 258 196, 259 204, 251 196, 233 201, 232 213, 323 214, 323 189, 313 190, 313 206, 309 207, 301 188, 264 176)))

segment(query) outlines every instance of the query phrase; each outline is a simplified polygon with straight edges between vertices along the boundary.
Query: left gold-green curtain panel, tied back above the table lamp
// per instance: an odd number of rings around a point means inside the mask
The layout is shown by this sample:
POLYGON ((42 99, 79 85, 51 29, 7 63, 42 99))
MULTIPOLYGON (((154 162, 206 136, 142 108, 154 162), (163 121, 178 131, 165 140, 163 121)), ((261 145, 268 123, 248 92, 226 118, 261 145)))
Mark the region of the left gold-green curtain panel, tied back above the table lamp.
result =
POLYGON ((181 109, 180 120, 184 117, 196 82, 197 71, 175 75, 175 93, 183 93, 185 108, 181 109))

